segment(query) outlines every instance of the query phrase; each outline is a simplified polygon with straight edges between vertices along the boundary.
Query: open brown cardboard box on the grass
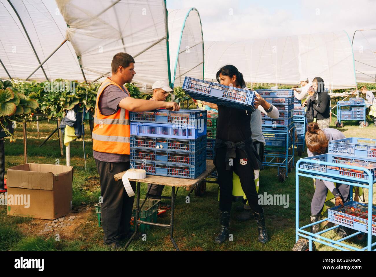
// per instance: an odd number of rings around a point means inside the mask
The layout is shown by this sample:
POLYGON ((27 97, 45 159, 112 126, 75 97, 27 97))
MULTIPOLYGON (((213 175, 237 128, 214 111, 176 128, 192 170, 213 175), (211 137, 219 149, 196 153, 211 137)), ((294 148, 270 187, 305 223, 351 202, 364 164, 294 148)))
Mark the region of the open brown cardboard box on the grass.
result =
POLYGON ((6 175, 8 215, 56 219, 70 213, 72 166, 26 163, 9 168, 6 175))

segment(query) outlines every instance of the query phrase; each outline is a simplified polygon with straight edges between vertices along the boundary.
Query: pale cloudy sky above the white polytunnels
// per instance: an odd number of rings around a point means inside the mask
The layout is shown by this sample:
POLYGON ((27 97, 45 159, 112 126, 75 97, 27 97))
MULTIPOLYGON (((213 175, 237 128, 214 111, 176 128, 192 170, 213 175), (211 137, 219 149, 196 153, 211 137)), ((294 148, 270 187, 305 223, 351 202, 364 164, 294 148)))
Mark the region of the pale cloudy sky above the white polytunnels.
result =
MULTIPOLYGON (((200 13, 206 41, 339 30, 345 30, 352 39, 357 29, 376 29, 376 0, 167 0, 169 10, 191 7, 200 13)), ((363 33, 376 38, 376 31, 363 33)))

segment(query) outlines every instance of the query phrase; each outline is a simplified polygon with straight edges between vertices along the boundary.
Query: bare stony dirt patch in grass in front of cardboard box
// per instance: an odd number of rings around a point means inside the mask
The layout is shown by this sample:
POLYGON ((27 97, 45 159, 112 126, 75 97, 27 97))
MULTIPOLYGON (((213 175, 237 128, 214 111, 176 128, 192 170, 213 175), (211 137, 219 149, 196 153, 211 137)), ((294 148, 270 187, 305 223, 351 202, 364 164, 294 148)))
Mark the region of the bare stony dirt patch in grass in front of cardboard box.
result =
POLYGON ((21 233, 25 236, 51 237, 59 235, 59 239, 80 239, 80 229, 89 225, 96 225, 96 221, 90 220, 94 209, 82 210, 77 213, 69 213, 55 220, 32 219, 32 221, 18 224, 21 233))

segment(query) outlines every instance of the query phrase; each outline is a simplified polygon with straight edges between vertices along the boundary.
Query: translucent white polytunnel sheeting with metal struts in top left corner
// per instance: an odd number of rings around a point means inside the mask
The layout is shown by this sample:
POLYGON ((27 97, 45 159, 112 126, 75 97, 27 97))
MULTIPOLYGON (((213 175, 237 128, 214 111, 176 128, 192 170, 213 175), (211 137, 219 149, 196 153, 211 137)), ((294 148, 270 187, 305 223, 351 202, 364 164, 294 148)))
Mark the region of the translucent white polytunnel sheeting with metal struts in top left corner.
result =
MULTIPOLYGON (((20 19, 7 0, 0 0, 0 59, 14 79, 26 79, 65 39, 67 25, 55 1, 11 0, 20 19), (27 38, 30 38, 31 44, 27 38), (35 49, 33 52, 32 46, 35 49)), ((70 79, 83 81, 76 54, 69 42, 60 47, 44 64, 47 79, 70 79)), ((86 78, 94 74, 85 72, 86 78)), ((39 68, 29 79, 46 80, 39 68)), ((0 78, 9 79, 0 65, 0 78)))

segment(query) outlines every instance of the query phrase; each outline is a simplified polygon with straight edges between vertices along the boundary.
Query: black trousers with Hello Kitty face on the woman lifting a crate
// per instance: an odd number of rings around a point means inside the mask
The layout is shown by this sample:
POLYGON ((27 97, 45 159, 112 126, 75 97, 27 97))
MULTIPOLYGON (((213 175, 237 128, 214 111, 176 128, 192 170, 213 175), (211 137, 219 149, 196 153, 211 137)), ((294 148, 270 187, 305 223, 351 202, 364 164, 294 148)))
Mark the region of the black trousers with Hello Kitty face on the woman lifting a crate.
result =
POLYGON ((219 208, 221 211, 230 211, 232 205, 232 175, 235 172, 240 179, 241 188, 247 196, 251 209, 256 213, 262 213, 262 207, 258 204, 258 193, 255 186, 255 175, 249 161, 244 160, 243 151, 236 149, 236 156, 233 160, 231 170, 226 170, 226 148, 218 148, 216 153, 216 164, 219 184, 219 208))

